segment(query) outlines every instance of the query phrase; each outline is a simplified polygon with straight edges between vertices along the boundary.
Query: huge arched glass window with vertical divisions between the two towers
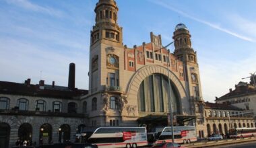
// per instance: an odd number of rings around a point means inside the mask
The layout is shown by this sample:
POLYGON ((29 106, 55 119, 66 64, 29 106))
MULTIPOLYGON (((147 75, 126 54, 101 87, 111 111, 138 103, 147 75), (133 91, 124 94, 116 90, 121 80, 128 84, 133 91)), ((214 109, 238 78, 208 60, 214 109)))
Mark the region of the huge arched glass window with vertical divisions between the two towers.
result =
POLYGON ((168 112, 171 99, 173 112, 179 113, 178 91, 172 83, 170 94, 168 94, 168 89, 168 77, 162 74, 155 73, 143 79, 139 85, 137 99, 139 112, 168 112))

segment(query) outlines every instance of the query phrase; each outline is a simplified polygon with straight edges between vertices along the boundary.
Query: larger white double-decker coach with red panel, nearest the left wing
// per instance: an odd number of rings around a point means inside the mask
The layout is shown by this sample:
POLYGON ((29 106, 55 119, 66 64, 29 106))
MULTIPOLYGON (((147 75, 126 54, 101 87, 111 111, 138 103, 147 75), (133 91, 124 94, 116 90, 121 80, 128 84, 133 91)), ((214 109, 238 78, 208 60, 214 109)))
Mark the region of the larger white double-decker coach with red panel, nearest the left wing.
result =
POLYGON ((76 141, 92 143, 98 147, 141 147, 148 145, 145 127, 85 128, 76 134, 76 141))

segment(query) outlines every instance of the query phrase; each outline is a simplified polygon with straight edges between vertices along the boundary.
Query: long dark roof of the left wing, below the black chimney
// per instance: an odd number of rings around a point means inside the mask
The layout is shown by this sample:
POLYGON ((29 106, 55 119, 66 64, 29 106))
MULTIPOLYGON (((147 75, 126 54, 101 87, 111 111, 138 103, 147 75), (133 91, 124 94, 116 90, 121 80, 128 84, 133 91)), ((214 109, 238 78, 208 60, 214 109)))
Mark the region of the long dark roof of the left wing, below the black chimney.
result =
POLYGON ((72 99, 74 97, 88 94, 88 90, 69 89, 68 87, 44 85, 44 89, 40 89, 39 85, 25 83, 13 83, 8 81, 0 81, 0 94, 13 94, 22 96, 38 96, 48 98, 64 98, 72 99))

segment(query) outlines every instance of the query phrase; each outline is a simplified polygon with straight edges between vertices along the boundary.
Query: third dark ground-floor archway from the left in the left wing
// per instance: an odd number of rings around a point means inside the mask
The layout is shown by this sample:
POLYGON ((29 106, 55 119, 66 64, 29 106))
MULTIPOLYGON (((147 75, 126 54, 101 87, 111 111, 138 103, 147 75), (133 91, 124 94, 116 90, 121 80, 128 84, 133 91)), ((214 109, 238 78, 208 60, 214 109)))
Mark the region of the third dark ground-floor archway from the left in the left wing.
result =
POLYGON ((49 144, 52 141, 52 132, 53 128, 51 124, 44 123, 40 126, 40 134, 39 134, 39 143, 40 144, 49 144))

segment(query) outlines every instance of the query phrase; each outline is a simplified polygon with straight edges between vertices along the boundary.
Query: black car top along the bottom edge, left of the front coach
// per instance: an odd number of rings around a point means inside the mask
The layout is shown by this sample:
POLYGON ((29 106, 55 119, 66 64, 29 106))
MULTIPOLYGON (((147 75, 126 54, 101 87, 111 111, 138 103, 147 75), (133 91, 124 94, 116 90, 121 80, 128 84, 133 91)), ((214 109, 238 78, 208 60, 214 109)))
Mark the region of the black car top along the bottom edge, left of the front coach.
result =
POLYGON ((53 145, 40 145, 39 148, 97 148, 90 143, 55 143, 53 145))

